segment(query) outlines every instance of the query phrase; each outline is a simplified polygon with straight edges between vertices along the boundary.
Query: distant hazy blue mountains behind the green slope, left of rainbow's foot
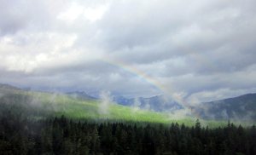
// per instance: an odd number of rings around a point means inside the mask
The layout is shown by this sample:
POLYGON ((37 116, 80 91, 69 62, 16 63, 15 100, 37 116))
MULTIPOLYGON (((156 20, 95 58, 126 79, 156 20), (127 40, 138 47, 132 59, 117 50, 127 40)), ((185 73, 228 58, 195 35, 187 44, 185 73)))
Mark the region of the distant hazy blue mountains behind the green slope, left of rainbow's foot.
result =
POLYGON ((123 96, 113 97, 113 101, 124 106, 139 107, 141 109, 147 109, 154 112, 171 112, 178 109, 182 109, 183 106, 172 100, 170 97, 164 95, 156 95, 148 98, 131 98, 127 99, 123 96))

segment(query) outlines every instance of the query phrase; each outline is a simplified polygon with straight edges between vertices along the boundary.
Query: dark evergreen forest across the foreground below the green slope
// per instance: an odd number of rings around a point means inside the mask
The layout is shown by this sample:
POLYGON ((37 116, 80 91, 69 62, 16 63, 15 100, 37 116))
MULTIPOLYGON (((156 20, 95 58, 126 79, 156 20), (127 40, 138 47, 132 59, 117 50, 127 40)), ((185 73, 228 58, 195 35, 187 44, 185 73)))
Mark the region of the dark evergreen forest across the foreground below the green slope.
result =
POLYGON ((256 154, 256 128, 26 119, 5 112, 0 154, 256 154))

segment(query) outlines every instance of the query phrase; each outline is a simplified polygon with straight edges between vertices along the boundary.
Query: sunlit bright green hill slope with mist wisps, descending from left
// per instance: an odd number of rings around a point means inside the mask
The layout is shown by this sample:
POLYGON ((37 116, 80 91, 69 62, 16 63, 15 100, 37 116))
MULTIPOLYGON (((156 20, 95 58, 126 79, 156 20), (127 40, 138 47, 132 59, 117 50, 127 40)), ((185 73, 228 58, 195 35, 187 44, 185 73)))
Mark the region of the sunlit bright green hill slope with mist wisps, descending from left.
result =
POLYGON ((11 111, 33 118, 65 115, 69 118, 109 119, 167 123, 171 119, 150 112, 108 103, 104 100, 80 100, 69 95, 26 91, 0 86, 0 112, 11 111))

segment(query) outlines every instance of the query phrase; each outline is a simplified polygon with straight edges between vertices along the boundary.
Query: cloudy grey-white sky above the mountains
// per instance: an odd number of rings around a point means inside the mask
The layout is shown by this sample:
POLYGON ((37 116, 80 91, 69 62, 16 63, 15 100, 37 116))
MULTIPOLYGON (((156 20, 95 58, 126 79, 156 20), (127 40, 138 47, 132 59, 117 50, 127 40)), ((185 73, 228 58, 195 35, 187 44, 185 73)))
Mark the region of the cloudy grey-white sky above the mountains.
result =
POLYGON ((0 83, 186 103, 256 92, 254 0, 0 3, 0 83))

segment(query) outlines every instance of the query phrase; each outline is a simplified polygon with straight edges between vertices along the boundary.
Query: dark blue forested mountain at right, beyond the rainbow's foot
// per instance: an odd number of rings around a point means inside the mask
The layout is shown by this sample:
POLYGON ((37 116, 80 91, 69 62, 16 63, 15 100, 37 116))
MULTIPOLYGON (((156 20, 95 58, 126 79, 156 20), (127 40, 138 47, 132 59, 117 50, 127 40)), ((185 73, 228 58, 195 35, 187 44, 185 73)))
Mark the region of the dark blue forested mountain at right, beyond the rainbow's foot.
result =
POLYGON ((256 120, 256 94, 201 103, 193 112, 206 119, 256 120))

